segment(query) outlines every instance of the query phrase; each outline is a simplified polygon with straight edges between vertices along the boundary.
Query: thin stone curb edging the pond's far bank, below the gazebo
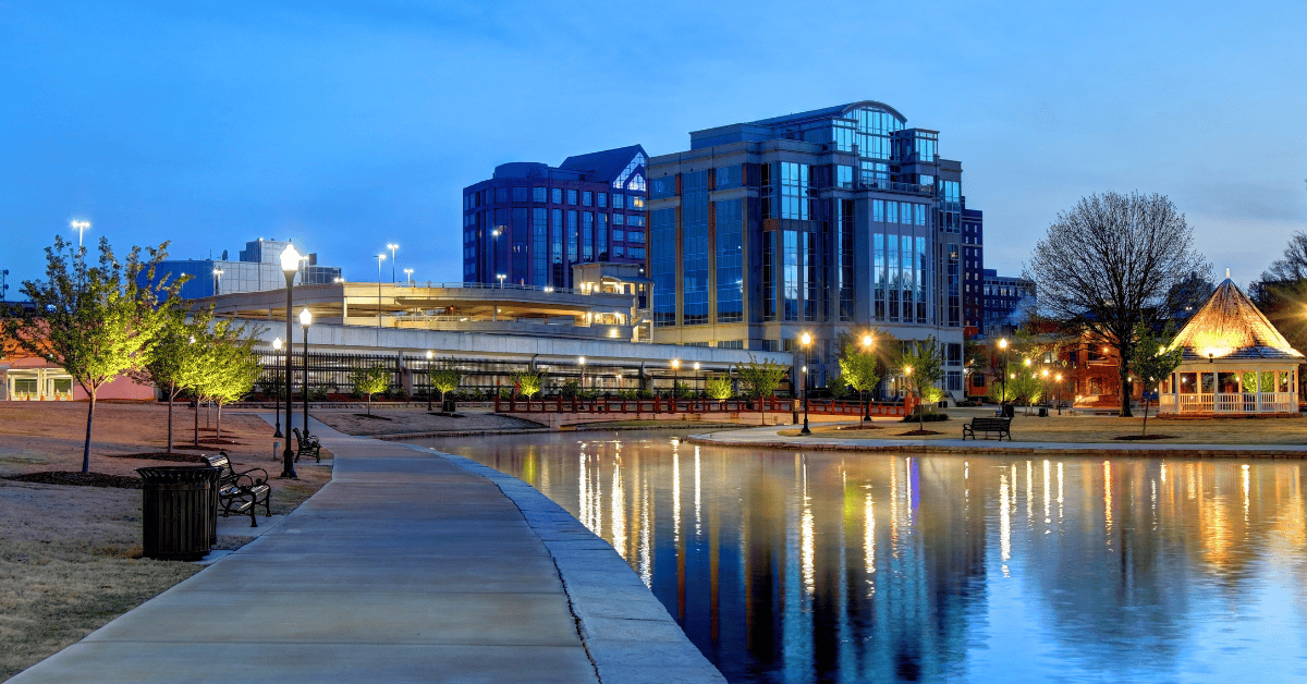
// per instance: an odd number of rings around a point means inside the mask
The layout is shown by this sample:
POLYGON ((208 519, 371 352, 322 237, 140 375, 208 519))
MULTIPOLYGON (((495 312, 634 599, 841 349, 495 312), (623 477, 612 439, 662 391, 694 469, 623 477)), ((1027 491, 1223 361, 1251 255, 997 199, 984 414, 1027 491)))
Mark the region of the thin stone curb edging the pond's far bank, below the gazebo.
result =
POLYGON ((1031 455, 1031 454, 1059 454, 1069 456, 1106 456, 1125 458, 1142 456, 1157 458, 1176 455, 1184 458, 1307 458, 1304 450, 1287 449, 1221 449, 1214 445, 1167 445, 1159 447, 1133 447, 1133 449, 1093 449, 1093 447, 1063 447, 1063 446, 950 446, 929 443, 921 445, 851 445, 839 442, 810 442, 808 439, 795 441, 740 441, 732 438, 714 437, 712 434, 691 434, 686 442, 695 445, 728 446, 744 449, 802 449, 806 451, 867 451, 884 454, 959 454, 959 455, 1031 455))

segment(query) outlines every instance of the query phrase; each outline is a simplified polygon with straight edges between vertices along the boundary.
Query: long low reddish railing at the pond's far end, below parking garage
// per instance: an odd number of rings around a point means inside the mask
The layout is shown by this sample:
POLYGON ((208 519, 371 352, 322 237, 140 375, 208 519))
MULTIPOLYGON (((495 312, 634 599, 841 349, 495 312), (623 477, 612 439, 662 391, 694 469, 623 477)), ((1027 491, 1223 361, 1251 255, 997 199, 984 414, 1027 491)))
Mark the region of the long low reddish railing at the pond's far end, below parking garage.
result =
MULTIPOLYGON (((808 413, 818 416, 906 416, 911 413, 912 398, 902 402, 812 402, 808 413)), ((802 400, 795 399, 499 399, 494 400, 495 413, 778 413, 802 411, 802 400)))

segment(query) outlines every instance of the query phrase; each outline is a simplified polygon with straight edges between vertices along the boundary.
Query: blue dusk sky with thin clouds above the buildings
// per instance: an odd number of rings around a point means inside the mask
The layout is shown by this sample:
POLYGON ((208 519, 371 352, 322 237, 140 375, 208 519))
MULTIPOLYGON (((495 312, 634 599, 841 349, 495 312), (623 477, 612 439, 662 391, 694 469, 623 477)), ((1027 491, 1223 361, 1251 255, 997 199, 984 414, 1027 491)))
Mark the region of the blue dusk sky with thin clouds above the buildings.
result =
POLYGON ((207 258, 290 237, 357 280, 461 279, 508 161, 877 99, 940 131, 1017 272, 1059 212, 1159 192, 1246 284, 1307 228, 1303 3, 0 0, 0 268, 73 218, 207 258))

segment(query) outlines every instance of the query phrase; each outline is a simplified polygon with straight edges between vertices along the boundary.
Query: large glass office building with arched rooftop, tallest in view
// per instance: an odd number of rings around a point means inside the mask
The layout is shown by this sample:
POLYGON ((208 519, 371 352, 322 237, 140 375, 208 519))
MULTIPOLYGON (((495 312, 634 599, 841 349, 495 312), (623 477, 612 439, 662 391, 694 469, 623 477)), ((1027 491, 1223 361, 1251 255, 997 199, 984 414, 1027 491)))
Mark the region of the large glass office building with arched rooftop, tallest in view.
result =
POLYGON ((787 351, 935 336, 962 390, 962 165, 880 102, 694 131, 648 163, 654 337, 787 351))

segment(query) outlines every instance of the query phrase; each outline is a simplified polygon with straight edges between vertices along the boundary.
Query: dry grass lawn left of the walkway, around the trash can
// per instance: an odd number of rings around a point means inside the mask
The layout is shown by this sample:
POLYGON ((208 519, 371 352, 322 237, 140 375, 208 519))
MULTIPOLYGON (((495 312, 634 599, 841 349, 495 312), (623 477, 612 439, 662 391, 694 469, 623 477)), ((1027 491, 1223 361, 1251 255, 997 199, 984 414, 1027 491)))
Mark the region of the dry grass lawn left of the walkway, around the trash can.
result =
MULTIPOLYGON (((175 443, 190 445, 192 413, 174 407, 175 443)), ((133 458, 165 451, 166 405, 99 403, 90 471, 136 477, 146 466, 186 466, 133 458), (127 458, 122 458, 127 456, 127 458)), ((0 477, 81 471, 85 403, 0 402, 0 477)), ((272 429, 255 416, 223 416, 225 449, 237 470, 273 477, 272 429)), ((200 416, 200 438, 213 438, 200 416)), ((201 442, 203 443, 203 442, 201 442)), ((218 446, 178 450, 213 454, 218 446)), ((329 479, 301 467, 299 480, 272 480, 272 511, 293 510, 329 479)), ((248 538, 218 538, 237 548, 248 538)), ((0 479, 0 680, 80 641, 114 617, 200 572, 180 561, 141 558, 141 492, 0 479)))

